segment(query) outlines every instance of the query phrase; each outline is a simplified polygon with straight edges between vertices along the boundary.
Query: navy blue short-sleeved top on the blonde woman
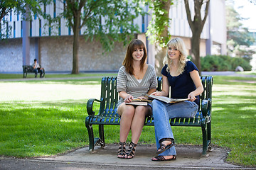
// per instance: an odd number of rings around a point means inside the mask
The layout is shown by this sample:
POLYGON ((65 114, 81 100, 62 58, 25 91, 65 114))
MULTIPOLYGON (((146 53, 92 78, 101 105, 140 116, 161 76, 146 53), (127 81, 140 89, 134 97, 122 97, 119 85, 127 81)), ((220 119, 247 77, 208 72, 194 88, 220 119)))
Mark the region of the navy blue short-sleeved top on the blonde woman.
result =
MULTIPOLYGON (((187 61, 184 72, 177 77, 172 77, 171 74, 167 72, 167 67, 167 64, 164 65, 161 74, 167 77, 169 86, 171 86, 171 98, 188 98, 188 94, 191 93, 191 91, 196 90, 196 86, 189 74, 193 70, 198 71, 196 65, 191 61, 187 61)), ((199 106, 199 96, 196 96, 196 98, 195 102, 199 106)))

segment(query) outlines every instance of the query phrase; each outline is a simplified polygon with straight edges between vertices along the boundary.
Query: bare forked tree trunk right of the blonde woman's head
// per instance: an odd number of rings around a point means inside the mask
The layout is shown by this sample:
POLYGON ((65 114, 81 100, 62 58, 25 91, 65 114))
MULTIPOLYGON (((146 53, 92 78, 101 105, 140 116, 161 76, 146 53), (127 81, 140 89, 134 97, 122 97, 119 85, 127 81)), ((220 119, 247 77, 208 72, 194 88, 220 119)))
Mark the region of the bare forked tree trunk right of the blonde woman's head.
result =
POLYGON ((189 7, 188 0, 184 0, 186 15, 188 18, 188 24, 192 31, 191 38, 191 57, 193 62, 196 64, 196 67, 199 69, 199 73, 201 73, 201 62, 200 62, 200 36, 203 30, 203 26, 206 23, 206 18, 208 16, 208 8, 210 5, 210 0, 194 0, 194 16, 192 19, 191 9, 189 7), (202 19, 201 16, 201 8, 204 5, 204 16, 202 19))

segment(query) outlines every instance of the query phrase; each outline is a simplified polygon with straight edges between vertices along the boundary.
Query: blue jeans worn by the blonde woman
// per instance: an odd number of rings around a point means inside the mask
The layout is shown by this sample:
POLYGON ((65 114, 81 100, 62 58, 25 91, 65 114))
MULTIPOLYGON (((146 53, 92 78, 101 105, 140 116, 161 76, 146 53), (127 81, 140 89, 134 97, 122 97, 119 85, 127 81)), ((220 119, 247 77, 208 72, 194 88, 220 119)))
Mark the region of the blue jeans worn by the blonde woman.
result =
MULTIPOLYGON (((171 118, 193 118, 198 105, 192 101, 183 101, 179 103, 164 103, 153 100, 154 129, 156 135, 156 147, 160 147, 159 141, 163 138, 174 139, 169 119, 171 118)), ((175 147, 171 147, 159 155, 176 155, 175 147)))

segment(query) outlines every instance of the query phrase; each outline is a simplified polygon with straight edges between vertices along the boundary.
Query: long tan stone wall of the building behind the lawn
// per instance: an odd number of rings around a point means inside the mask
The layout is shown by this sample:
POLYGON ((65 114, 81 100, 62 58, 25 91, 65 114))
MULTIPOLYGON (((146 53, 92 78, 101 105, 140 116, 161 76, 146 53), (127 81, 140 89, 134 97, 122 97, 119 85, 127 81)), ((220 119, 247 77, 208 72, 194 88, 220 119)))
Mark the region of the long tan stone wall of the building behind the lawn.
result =
MULTIPOLYGON (((30 64, 36 57, 35 38, 30 39, 30 64)), ((38 38, 39 61, 46 72, 71 72, 73 67, 73 37, 38 38)), ((117 70, 122 65, 126 47, 116 43, 112 52, 103 53, 100 42, 80 37, 79 69, 83 71, 117 70)), ((0 42, 0 72, 22 72, 22 39, 0 42)))

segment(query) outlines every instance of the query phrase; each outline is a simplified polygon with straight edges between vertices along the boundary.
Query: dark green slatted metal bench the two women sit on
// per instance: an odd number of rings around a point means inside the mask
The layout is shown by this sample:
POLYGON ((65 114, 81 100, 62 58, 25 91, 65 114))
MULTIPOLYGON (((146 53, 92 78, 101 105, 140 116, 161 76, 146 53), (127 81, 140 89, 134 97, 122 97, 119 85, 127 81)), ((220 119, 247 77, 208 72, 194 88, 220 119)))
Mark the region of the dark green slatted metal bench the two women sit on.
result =
MULTIPOLYGON (((207 157, 207 151, 211 150, 211 103, 212 103, 212 86, 213 77, 201 77, 204 87, 200 95, 199 111, 194 118, 172 118, 171 126, 190 126, 201 127, 203 133, 203 152, 202 156, 207 157)), ((161 91, 161 77, 157 77, 157 91, 161 91)), ((90 98, 87 101, 87 113, 85 126, 89 135, 89 150, 94 151, 96 145, 105 147, 104 125, 119 125, 120 117, 117 114, 117 77, 103 77, 101 82, 100 100, 90 98), (100 108, 93 107, 94 102, 100 103, 100 108), (95 114, 96 109, 97 114, 95 114), (94 137, 92 125, 99 125, 99 137, 94 137)), ((147 117, 144 125, 154 126, 154 118, 147 117)))

